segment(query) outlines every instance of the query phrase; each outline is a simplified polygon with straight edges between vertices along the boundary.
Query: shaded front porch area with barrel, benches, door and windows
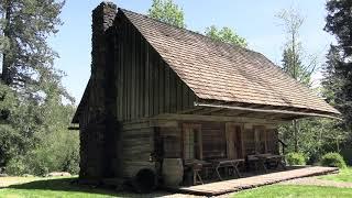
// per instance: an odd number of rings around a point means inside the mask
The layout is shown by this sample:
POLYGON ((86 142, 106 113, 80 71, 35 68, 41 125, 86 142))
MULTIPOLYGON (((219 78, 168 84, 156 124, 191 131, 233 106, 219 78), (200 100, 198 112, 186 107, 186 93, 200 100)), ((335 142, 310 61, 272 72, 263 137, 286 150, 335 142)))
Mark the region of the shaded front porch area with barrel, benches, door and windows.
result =
POLYGON ((165 186, 190 186, 285 169, 276 123, 172 120, 155 129, 156 169, 165 186), (243 175, 242 175, 243 174, 243 175))

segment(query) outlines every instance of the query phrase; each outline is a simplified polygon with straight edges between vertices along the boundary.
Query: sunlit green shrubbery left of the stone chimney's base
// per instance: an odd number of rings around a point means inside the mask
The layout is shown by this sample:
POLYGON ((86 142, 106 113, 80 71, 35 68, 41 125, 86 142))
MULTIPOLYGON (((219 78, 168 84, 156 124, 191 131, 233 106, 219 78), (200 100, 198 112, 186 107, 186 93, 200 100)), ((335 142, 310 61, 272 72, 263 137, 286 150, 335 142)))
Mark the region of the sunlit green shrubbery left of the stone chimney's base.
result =
POLYGON ((41 145, 23 155, 12 157, 6 165, 6 173, 13 176, 23 174, 45 176, 51 172, 78 174, 79 134, 57 131, 44 135, 41 145))

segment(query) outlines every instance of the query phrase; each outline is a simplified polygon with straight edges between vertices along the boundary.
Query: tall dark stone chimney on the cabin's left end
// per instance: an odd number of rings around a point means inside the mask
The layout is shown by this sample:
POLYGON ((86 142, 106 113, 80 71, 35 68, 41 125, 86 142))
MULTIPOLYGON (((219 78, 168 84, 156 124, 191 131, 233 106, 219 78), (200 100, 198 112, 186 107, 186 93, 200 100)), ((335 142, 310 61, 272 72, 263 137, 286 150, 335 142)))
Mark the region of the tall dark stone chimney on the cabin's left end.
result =
POLYGON ((111 161, 116 151, 113 145, 116 119, 107 107, 112 103, 108 102, 109 90, 107 89, 110 89, 109 70, 113 68, 108 56, 112 35, 109 30, 113 29, 116 15, 117 6, 112 2, 101 2, 92 11, 89 121, 87 130, 80 133, 80 178, 99 179, 113 176, 111 161))

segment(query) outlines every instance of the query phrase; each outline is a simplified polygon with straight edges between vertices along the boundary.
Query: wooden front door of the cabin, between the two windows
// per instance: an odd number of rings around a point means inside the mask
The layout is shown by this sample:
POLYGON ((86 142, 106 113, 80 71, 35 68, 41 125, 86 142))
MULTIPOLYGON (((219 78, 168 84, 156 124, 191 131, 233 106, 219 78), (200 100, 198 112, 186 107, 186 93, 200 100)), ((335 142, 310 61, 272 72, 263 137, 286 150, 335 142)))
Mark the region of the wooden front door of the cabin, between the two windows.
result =
POLYGON ((227 154, 228 158, 242 158, 242 129, 238 124, 227 124, 227 154))

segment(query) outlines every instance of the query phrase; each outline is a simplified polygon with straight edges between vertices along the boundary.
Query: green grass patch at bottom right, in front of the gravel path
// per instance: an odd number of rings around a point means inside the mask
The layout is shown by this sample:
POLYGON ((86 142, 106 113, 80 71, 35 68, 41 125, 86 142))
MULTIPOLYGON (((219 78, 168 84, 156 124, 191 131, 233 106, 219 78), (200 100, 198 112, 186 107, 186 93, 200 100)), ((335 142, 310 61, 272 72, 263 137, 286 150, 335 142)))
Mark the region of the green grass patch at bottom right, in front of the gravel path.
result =
POLYGON ((271 185, 233 194, 232 197, 352 197, 352 188, 271 185))

